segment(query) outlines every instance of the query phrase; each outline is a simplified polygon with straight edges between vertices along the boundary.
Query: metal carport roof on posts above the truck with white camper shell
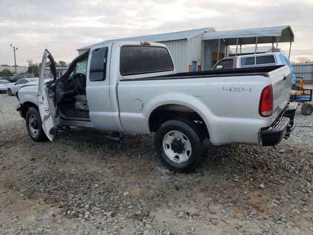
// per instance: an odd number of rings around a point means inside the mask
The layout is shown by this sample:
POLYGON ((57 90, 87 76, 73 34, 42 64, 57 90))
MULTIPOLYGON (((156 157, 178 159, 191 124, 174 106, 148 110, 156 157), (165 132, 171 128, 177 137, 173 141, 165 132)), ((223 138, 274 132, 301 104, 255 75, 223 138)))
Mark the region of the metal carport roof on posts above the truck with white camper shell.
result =
POLYGON ((204 33, 202 40, 226 39, 227 45, 236 45, 237 38, 239 38, 238 44, 255 44, 256 37, 258 37, 258 44, 276 43, 276 37, 279 37, 281 43, 294 41, 290 25, 204 33))

